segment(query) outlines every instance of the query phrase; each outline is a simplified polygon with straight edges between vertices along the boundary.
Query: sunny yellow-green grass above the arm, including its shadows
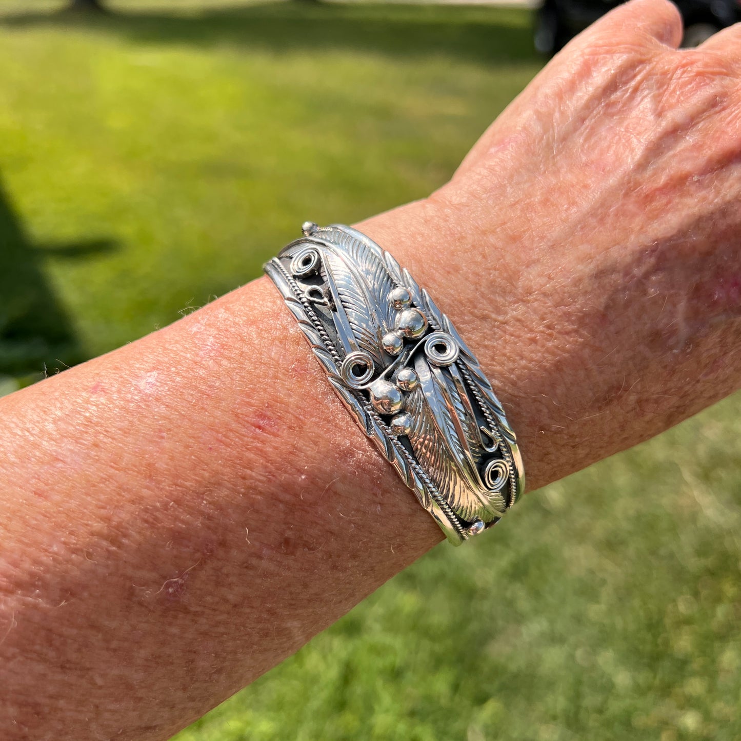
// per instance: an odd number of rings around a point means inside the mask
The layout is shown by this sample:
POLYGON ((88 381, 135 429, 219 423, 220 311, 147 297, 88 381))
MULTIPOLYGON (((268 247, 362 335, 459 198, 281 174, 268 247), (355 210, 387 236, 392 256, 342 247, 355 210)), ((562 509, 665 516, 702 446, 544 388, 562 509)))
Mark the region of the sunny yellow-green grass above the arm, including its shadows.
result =
POLYGON ((538 66, 522 11, 126 5, 0 25, 0 373, 171 322, 307 217, 425 196, 538 66))

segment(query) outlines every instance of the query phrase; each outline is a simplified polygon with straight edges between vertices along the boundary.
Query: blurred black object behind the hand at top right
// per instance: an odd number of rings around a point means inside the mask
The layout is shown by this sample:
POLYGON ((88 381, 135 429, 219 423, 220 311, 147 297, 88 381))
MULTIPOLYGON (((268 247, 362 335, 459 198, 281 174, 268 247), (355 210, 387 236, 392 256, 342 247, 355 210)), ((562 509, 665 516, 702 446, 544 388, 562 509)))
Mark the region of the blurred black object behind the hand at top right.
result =
MULTIPOLYGON (((696 47, 734 24, 740 0, 674 0, 685 24, 683 47, 696 47)), ((577 33, 620 4, 616 0, 545 0, 536 15, 535 48, 552 56, 577 33)))

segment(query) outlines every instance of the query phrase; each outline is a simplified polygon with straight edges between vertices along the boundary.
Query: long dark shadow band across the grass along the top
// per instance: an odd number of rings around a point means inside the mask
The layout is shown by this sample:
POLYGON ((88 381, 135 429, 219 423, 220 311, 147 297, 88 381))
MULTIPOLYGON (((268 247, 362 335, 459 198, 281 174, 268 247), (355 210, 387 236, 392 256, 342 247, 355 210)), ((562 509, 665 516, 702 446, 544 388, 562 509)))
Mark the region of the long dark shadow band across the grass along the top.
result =
POLYGON ((370 50, 477 62, 535 60, 531 11, 497 7, 307 3, 248 4, 197 14, 22 13, 6 27, 69 27, 136 41, 233 44, 274 52, 370 50))

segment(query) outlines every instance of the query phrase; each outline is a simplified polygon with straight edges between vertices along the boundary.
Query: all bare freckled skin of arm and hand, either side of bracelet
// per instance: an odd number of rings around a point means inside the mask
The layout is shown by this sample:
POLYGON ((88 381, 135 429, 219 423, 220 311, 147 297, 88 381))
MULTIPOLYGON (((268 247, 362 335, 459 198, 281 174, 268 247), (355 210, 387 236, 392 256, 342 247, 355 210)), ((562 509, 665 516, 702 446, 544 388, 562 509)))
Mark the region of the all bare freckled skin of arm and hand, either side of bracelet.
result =
MULTIPOLYGON (((741 31, 680 36, 619 7, 360 225, 476 350, 531 488, 740 385, 741 31)), ((165 740, 442 538, 266 279, 0 416, 3 740, 165 740)))

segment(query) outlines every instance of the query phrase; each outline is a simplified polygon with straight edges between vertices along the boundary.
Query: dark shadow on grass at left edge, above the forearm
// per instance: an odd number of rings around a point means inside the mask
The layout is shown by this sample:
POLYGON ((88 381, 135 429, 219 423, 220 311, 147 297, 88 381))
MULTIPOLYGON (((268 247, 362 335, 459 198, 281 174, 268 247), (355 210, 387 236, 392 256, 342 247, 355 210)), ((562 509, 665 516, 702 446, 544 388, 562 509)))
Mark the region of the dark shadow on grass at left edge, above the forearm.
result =
POLYGON ((84 359, 41 260, 76 259, 113 248, 104 239, 34 245, 0 184, 0 376, 30 382, 84 359))

